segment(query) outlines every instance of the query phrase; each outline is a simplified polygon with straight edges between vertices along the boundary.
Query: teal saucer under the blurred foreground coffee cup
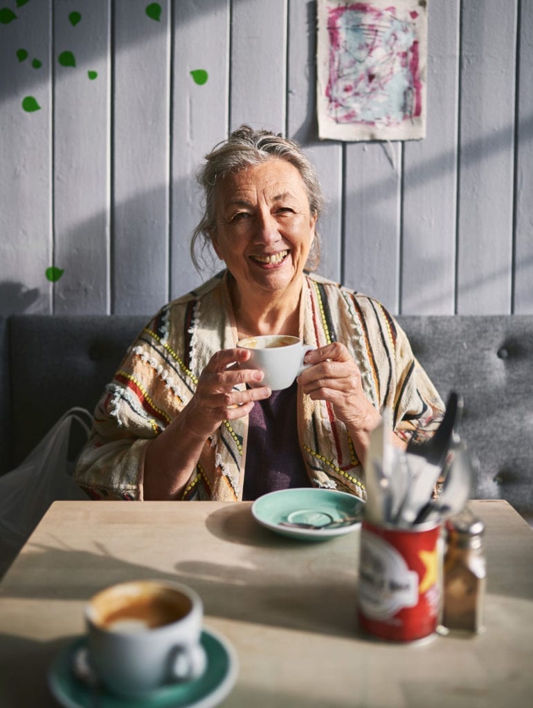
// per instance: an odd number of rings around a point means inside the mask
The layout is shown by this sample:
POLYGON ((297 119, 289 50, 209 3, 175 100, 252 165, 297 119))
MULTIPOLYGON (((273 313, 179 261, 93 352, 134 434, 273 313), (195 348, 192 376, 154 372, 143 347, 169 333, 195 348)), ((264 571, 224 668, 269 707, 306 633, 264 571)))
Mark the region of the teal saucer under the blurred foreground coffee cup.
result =
POLYGON ((80 636, 64 647, 50 666, 48 685, 65 708, 212 708, 232 690, 237 679, 237 655, 226 639, 204 627, 201 644, 208 666, 199 678, 165 686, 148 698, 113 695, 104 687, 91 688, 72 671, 74 654, 86 644, 80 636))

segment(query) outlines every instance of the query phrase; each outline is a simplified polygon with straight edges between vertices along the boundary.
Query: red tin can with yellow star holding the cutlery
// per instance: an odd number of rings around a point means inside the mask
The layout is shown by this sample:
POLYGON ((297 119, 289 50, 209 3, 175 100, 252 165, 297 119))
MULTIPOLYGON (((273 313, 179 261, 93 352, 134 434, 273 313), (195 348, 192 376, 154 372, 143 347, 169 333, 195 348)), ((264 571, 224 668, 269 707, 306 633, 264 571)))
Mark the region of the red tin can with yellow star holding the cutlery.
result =
POLYGON ((441 526, 361 525, 359 625, 381 639, 415 641, 439 622, 441 526))

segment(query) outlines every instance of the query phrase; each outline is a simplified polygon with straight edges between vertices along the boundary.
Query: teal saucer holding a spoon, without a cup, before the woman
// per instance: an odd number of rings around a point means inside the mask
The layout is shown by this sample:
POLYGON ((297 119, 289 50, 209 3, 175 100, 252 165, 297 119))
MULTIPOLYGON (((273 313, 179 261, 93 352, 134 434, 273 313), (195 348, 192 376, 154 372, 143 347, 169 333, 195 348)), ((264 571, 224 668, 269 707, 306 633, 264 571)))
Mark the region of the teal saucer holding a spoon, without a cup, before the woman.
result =
POLYGON ((327 528, 330 521, 349 516, 362 518, 364 501, 353 494, 336 489, 281 489, 257 498, 252 515, 257 523, 282 536, 303 541, 326 541, 352 533, 361 520, 337 528, 327 528), (281 525, 281 522, 312 523, 323 528, 305 529, 281 525))

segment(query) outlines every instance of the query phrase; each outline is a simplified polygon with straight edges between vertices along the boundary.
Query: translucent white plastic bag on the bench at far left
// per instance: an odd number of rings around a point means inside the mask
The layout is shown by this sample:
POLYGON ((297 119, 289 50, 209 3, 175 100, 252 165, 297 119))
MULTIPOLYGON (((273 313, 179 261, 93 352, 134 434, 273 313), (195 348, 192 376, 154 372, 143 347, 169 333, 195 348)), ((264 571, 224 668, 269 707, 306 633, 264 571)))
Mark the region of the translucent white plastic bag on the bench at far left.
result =
POLYGON ((89 497, 72 479, 76 458, 89 438, 92 416, 72 408, 45 435, 16 469, 0 476, 0 578, 26 543, 53 501, 89 497), (84 440, 72 429, 78 423, 84 440), (72 458, 72 441, 77 450, 72 458))

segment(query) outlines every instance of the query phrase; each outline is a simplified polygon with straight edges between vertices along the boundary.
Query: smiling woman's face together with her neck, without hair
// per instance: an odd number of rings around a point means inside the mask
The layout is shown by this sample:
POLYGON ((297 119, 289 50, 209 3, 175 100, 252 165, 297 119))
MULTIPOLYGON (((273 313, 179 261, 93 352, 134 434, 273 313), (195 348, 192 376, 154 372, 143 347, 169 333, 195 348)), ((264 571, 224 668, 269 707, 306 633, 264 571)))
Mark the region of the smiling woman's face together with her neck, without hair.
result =
POLYGON ((318 215, 310 212, 296 167, 273 158, 228 174, 220 181, 215 213, 210 236, 233 276, 239 338, 273 332, 298 336, 301 276, 318 215))

